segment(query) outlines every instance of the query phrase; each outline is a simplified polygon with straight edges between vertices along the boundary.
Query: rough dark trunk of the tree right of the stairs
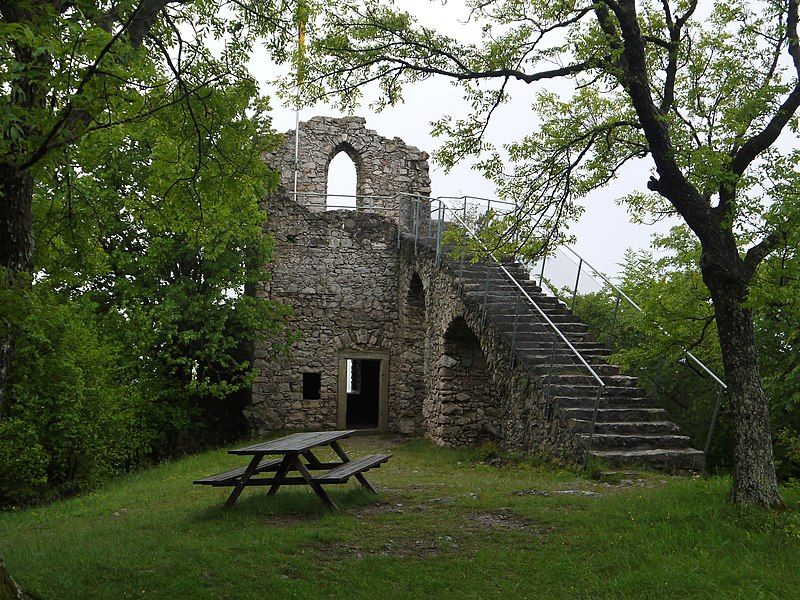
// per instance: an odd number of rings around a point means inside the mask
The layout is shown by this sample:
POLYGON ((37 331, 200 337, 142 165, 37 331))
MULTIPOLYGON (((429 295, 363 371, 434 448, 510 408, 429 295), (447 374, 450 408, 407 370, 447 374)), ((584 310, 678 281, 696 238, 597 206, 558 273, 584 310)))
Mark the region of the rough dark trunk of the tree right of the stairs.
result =
MULTIPOLYGON (((738 260, 738 257, 737 257, 738 260)), ((767 399, 761 386, 758 349, 750 310, 745 308, 747 284, 723 279, 703 268, 717 320, 725 379, 734 425, 733 490, 740 504, 776 506, 781 503, 772 457, 772 434, 767 399)))

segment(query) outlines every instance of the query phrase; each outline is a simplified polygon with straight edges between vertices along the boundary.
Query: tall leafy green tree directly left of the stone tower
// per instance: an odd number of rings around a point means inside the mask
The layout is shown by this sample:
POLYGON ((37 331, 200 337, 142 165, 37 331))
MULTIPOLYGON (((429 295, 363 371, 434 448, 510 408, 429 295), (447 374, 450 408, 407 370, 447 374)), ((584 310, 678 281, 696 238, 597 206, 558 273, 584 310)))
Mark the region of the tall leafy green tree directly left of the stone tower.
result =
POLYGON ((96 307, 148 399, 156 456, 241 436, 254 339, 291 339, 287 309, 255 294, 272 248, 266 109, 250 81, 214 86, 88 135, 36 192, 36 285, 96 307))

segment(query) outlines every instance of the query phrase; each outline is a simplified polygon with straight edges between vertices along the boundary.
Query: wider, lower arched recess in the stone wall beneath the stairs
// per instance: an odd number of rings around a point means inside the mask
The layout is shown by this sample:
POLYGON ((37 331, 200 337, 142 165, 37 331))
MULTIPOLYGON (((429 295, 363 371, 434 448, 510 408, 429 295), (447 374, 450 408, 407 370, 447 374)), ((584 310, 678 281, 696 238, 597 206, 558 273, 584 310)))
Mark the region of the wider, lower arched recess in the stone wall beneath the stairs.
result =
POLYGON ((498 393, 480 340, 463 316, 448 324, 433 366, 428 436, 444 446, 488 439, 498 427, 498 393))

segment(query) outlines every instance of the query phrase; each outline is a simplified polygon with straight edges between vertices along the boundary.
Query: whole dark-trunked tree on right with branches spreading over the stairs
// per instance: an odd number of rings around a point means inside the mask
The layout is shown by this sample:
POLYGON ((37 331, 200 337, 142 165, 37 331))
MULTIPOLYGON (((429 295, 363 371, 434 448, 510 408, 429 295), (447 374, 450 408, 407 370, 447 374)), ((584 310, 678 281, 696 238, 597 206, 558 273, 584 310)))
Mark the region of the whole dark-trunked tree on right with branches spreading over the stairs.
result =
MULTIPOLYGON (((735 423, 732 498, 780 502, 767 401, 748 291, 762 261, 798 223, 798 0, 468 0, 482 39, 464 43, 419 26, 380 0, 328 7, 309 25, 306 94, 352 107, 378 82, 379 105, 429 77, 463 86, 469 117, 441 119, 445 166, 483 155, 478 167, 520 201, 520 222, 557 234, 575 201, 647 159, 642 212, 680 215, 700 242, 699 270, 714 307, 735 423), (504 176, 484 133, 516 84, 535 88, 540 124, 510 145, 504 176)), ((532 116, 534 116, 532 115, 532 116)), ((532 119, 533 121, 533 119, 532 119)), ((528 225, 522 225, 527 227, 528 225)), ((531 232, 528 232, 529 234, 531 232)), ((527 236, 523 235, 523 239, 527 236)))

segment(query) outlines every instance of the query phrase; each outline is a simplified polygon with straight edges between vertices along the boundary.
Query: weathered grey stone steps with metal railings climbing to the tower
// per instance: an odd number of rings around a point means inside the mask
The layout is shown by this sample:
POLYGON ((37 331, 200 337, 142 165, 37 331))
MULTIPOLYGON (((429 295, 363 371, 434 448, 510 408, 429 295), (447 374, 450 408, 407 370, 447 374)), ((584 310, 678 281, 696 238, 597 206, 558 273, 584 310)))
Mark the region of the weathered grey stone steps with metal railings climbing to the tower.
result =
MULTIPOLYGON (((562 341, 553 349, 552 327, 495 263, 489 264, 488 269, 486 262, 470 264, 445 258, 444 263, 455 273, 467 298, 482 306, 486 299, 486 319, 509 343, 513 340, 518 359, 540 379, 543 389, 549 390, 551 415, 565 423, 588 447, 599 387, 588 369, 562 341), (515 319, 516 307, 519 313, 515 319)), ((610 350, 595 340, 588 325, 560 300, 544 294, 521 265, 511 263, 505 267, 606 385, 597 411, 590 456, 618 466, 643 465, 671 471, 701 469, 703 453, 691 447, 689 438, 681 435, 667 412, 639 387, 638 378, 623 375, 619 366, 608 363, 610 350)))

